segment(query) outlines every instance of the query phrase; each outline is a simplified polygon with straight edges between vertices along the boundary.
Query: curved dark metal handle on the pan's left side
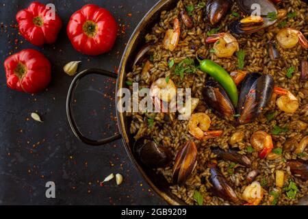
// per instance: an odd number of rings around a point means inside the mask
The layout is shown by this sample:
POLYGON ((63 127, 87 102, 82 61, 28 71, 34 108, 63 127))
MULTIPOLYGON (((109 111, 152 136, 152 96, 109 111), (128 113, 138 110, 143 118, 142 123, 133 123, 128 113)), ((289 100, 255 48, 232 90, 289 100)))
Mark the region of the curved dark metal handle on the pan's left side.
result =
POLYGON ((114 136, 111 136, 109 138, 101 139, 101 140, 91 140, 89 138, 86 138, 80 131, 79 128, 77 127, 75 118, 73 116, 73 99, 74 99, 74 94, 75 90, 77 88, 77 85, 79 81, 83 78, 86 77, 87 75, 91 74, 97 74, 97 75, 104 75, 107 77, 112 77, 112 78, 117 78, 117 75, 115 73, 111 73, 107 70, 102 70, 102 69, 87 69, 79 73, 75 79, 73 79, 72 83, 70 84, 70 88, 68 90, 67 98, 66 98, 66 115, 68 118, 68 123, 70 124, 70 128, 72 129, 73 133, 75 136, 81 140, 81 142, 84 142, 85 144, 89 144, 92 146, 100 146, 103 144, 108 144, 110 142, 114 142, 115 140, 118 140, 122 138, 120 134, 116 134, 114 136))

